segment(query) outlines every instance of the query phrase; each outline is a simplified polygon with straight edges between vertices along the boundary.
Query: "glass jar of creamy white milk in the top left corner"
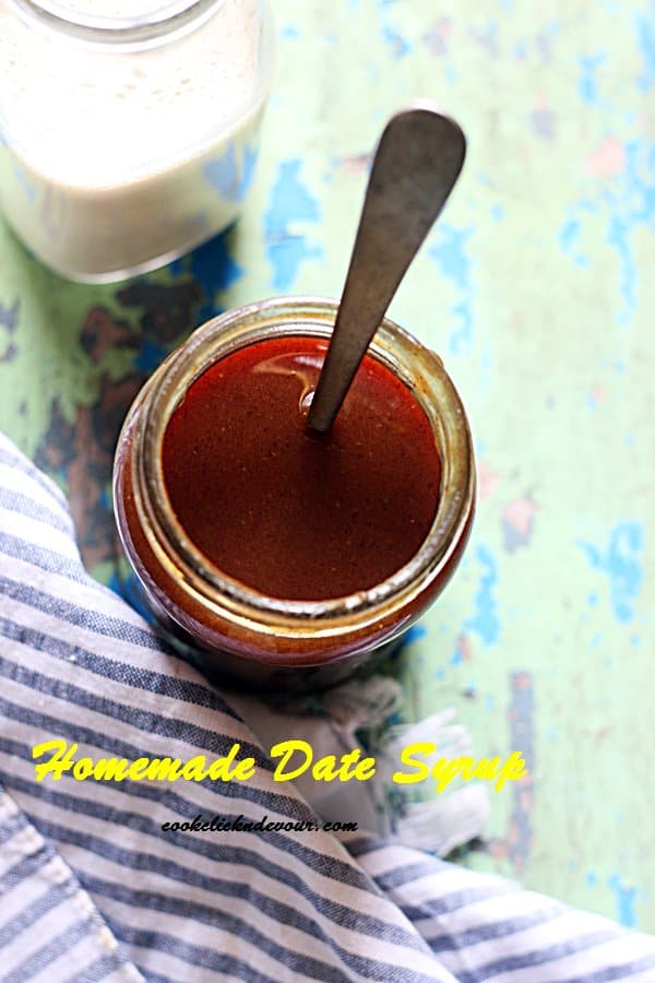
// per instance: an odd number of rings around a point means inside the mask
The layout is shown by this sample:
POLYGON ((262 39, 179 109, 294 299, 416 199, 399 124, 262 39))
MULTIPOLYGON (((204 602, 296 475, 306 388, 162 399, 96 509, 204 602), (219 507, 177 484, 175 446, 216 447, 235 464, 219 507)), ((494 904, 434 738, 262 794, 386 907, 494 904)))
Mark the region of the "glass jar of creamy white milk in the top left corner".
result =
POLYGON ((0 208, 82 282, 238 215, 271 86, 267 0, 0 0, 0 208))

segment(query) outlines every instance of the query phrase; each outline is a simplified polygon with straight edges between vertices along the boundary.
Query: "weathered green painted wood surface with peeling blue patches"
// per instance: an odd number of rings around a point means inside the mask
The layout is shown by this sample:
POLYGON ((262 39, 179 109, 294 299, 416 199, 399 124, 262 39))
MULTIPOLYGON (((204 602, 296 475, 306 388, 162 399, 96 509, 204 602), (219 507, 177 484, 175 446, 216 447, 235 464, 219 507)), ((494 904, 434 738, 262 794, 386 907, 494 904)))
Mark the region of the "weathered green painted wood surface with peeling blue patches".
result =
POLYGON ((337 295, 385 117, 431 97, 464 176, 392 308, 468 407, 466 559, 402 655, 532 779, 464 862, 655 931, 655 19, 652 3, 277 0, 278 71, 239 226, 127 284, 70 284, 0 224, 0 427, 68 489, 116 579, 108 479, 138 388, 211 313, 337 295))

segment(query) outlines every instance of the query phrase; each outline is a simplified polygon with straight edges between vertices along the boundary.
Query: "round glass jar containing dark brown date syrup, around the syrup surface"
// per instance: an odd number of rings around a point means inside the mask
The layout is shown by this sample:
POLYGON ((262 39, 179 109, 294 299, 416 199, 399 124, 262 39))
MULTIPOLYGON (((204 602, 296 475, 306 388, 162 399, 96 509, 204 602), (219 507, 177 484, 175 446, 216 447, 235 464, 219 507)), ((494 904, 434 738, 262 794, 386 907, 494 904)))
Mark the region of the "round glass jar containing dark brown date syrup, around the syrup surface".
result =
MULTIPOLYGON (((207 670, 255 687, 305 689, 349 675, 437 597, 468 538, 475 465, 464 407, 441 359, 385 319, 369 354, 422 407, 441 460, 434 520, 419 550, 384 582, 346 597, 282 601, 231 580, 189 541, 167 496, 162 448, 168 422, 211 365, 271 337, 329 339, 337 305, 279 298, 214 318, 159 366, 132 405, 114 471, 114 506, 127 557, 162 623, 191 642, 207 670)), ((219 520, 219 517, 217 517, 219 520)))

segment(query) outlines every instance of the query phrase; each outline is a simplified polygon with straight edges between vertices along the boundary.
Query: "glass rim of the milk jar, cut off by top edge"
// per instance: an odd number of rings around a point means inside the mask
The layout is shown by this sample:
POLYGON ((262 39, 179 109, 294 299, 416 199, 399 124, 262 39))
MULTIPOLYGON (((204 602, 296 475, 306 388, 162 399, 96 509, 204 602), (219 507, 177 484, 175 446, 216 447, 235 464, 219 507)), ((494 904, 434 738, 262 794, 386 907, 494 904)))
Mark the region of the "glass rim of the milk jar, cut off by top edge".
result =
POLYGON ((11 0, 20 14, 79 40, 120 46, 157 43, 196 27, 216 13, 225 0, 172 0, 136 16, 96 16, 71 10, 62 0, 11 0))

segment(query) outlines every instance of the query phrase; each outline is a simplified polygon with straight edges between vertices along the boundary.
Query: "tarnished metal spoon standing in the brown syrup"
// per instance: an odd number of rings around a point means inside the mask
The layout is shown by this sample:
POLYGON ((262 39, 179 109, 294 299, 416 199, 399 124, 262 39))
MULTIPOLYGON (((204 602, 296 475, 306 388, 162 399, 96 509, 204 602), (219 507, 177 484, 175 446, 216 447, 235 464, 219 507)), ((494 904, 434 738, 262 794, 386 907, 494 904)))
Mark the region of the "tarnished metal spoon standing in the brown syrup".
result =
POLYGON ((334 332, 307 424, 325 434, 464 163, 457 123, 426 105, 393 116, 376 151, 334 332))

